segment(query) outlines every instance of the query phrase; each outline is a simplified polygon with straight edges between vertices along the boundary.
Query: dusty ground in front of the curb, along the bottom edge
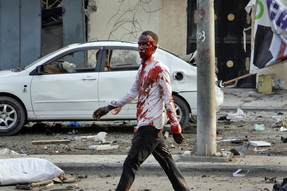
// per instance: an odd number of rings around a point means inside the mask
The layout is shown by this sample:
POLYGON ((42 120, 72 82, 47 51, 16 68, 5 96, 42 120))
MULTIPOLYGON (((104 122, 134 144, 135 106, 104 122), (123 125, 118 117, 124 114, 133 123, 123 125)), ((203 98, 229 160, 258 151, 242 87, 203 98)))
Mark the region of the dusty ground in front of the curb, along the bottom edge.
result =
MULTIPOLYGON (((77 178, 78 175, 73 175, 77 178)), ((64 189, 71 188, 76 191, 87 190, 115 190, 120 180, 120 175, 109 175, 107 178, 102 178, 103 175, 87 175, 87 178, 81 179, 80 182, 71 184, 54 184, 49 187, 41 187, 42 190, 52 189, 64 189)), ((184 175, 187 185, 190 190, 194 191, 250 191, 250 190, 262 190, 271 191, 274 182, 269 183, 265 181, 264 177, 230 177, 230 176, 204 176, 204 175, 184 175)), ((283 181, 283 177, 276 180, 283 181)), ((1 186, 0 191, 6 190, 19 190, 13 186, 1 186)), ((158 176, 154 175, 136 175, 135 181, 132 184, 130 191, 138 190, 151 190, 151 191, 173 191, 172 185, 166 175, 158 176)))

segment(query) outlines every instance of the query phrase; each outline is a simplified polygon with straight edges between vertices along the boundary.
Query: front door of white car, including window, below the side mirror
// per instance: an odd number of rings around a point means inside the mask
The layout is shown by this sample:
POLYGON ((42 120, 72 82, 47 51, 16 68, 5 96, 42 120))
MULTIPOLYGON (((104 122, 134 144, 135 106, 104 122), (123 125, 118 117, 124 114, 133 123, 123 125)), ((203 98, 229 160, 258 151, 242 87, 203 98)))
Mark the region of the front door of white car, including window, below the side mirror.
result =
POLYGON ((70 50, 56 56, 44 64, 43 75, 33 76, 30 91, 35 115, 92 119, 94 110, 99 107, 100 64, 97 63, 101 61, 102 47, 86 49, 70 50))

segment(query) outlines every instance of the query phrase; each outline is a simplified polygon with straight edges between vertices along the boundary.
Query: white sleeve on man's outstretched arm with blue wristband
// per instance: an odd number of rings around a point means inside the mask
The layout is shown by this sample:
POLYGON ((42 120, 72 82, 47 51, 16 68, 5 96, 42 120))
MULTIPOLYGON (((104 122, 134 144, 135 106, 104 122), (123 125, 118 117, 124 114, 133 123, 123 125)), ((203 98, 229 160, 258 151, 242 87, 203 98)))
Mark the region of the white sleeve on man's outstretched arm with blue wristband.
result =
POLYGON ((120 112, 122 107, 131 101, 133 101, 139 92, 139 82, 138 82, 138 73, 135 79, 135 83, 132 85, 132 88, 122 97, 118 98, 116 101, 107 100, 106 104, 118 107, 116 109, 111 110, 112 114, 116 115, 120 112))

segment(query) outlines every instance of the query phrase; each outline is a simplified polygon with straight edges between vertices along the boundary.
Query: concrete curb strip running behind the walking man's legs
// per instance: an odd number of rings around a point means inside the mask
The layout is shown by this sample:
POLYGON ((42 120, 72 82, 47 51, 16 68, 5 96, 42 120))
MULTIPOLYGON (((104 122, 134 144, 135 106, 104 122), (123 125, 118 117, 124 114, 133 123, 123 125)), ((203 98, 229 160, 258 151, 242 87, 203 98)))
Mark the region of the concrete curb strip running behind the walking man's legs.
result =
MULTIPOLYGON (((42 158, 56 164, 65 173, 75 174, 120 174, 126 155, 0 155, 6 158, 42 158), (72 162, 73 161, 73 162, 72 162)), ((233 157, 227 162, 194 162, 207 161, 205 157, 182 157, 173 155, 173 158, 183 174, 190 175, 230 175, 238 169, 249 170, 249 176, 286 176, 286 157, 278 156, 246 156, 233 157), (204 159, 205 158, 205 159, 204 159)), ((217 157, 213 157, 214 158, 217 157)), ((215 161, 215 160, 214 160, 215 161)), ((164 174, 158 162, 149 156, 141 165, 138 174, 164 174)))

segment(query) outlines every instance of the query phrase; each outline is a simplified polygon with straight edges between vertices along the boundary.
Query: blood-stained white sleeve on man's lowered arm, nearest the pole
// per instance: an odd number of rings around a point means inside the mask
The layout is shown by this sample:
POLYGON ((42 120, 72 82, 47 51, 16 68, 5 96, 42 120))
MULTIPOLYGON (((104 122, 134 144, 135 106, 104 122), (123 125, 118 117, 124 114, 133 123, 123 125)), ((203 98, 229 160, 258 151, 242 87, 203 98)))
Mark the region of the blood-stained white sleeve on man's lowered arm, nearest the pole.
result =
POLYGON ((170 128, 172 133, 180 133, 181 127, 175 112, 174 102, 172 100, 172 91, 170 84, 170 73, 167 67, 162 68, 157 78, 158 87, 160 89, 161 97, 164 100, 164 105, 167 109, 167 116, 170 120, 170 128))

